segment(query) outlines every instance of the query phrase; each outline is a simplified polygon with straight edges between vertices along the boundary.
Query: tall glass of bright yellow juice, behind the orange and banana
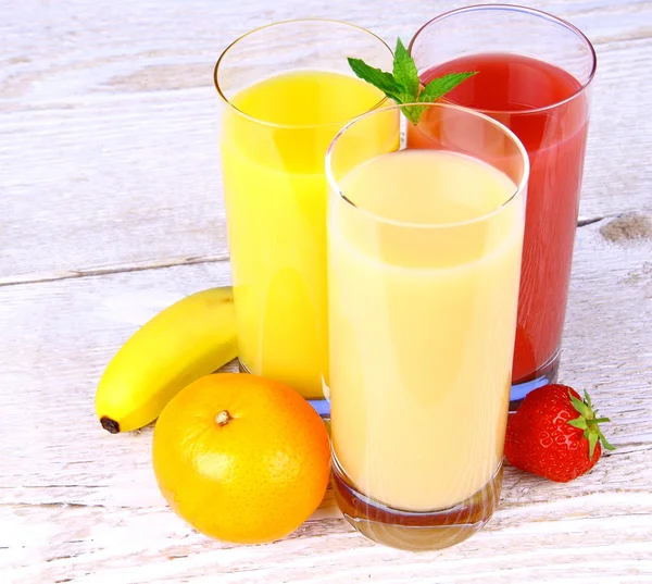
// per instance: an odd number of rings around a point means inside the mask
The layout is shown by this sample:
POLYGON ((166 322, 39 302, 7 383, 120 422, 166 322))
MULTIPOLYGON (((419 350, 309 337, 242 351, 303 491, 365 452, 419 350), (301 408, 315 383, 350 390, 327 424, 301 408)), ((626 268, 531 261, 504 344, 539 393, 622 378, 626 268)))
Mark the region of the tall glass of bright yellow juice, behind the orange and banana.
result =
POLYGON ((287 383, 328 413, 326 149, 384 102, 347 57, 391 67, 356 26, 290 21, 253 30, 220 57, 221 153, 242 371, 287 383))

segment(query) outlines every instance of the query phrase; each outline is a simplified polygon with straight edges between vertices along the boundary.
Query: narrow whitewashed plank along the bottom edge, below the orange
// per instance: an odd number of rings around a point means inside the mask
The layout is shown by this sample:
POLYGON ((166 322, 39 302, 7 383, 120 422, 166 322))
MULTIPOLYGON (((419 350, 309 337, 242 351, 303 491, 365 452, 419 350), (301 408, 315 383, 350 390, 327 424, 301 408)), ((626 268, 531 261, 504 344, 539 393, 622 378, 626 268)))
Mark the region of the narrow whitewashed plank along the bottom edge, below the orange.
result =
MULTIPOLYGON (((638 507, 625 498, 576 497, 539 506, 535 515, 501 511, 473 539, 419 555, 373 545, 340 519, 309 522, 274 545, 231 547, 155 510, 49 509, 24 513, 22 524, 36 526, 47 517, 48 525, 77 529, 50 531, 54 554, 41 532, 38 540, 47 548, 40 561, 10 572, 9 582, 580 583, 595 571, 600 582, 650 582, 650 501, 638 507), (609 522, 600 514, 603 505, 615 510, 609 522), (576 517, 560 521, 562 511, 576 517)), ((3 524, 21 533, 21 523, 3 524)), ((36 530, 32 535, 34 545, 36 530)))

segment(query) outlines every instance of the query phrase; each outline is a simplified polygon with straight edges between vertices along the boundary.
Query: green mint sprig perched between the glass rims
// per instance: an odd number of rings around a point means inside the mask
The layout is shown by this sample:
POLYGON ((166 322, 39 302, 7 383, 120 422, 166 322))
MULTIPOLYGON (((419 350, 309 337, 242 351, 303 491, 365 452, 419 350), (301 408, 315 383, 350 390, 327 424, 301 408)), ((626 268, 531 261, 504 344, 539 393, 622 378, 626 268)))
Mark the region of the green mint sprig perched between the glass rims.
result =
MULTIPOLYGON (((414 60, 400 38, 397 40, 392 73, 367 65, 362 59, 349 57, 348 61, 355 75, 380 89, 380 91, 389 99, 393 99, 398 104, 437 101, 451 89, 457 87, 463 80, 477 73, 477 71, 449 73, 448 75, 432 79, 423 87, 414 60)), ((418 124, 425 110, 426 105, 401 108, 405 117, 414 125, 418 124)))

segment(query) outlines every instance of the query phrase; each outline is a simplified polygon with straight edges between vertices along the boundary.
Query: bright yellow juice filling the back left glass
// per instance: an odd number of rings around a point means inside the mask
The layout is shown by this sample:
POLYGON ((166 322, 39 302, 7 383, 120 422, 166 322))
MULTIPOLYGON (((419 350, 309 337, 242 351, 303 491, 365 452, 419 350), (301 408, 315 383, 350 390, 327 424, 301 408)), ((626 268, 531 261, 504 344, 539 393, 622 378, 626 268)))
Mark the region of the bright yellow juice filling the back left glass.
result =
POLYGON ((352 76, 296 71, 231 100, 221 139, 240 361, 306 398, 327 368, 324 158, 383 95, 352 76))

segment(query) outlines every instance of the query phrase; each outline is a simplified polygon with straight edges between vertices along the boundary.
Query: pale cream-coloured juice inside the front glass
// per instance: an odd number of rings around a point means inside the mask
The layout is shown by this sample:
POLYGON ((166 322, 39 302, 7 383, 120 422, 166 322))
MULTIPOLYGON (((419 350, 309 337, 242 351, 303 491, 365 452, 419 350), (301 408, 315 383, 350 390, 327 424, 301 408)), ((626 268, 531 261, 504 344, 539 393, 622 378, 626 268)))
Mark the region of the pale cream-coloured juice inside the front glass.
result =
POLYGON ((333 196, 334 451, 377 501, 446 509, 502 460, 523 199, 507 203, 516 186, 500 171, 442 150, 383 154, 340 186, 356 208, 333 196))

